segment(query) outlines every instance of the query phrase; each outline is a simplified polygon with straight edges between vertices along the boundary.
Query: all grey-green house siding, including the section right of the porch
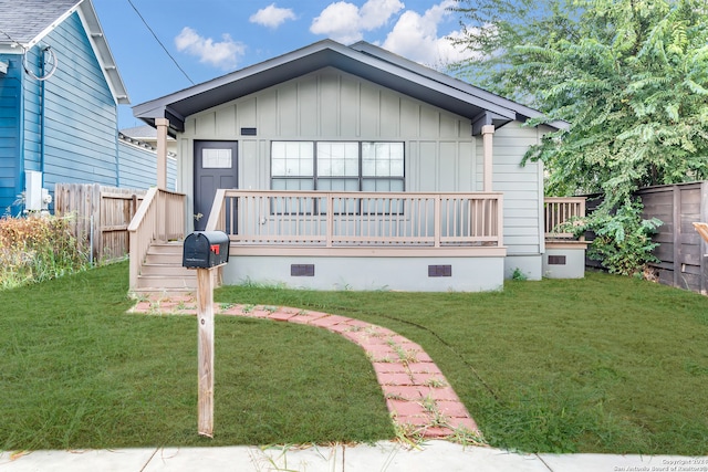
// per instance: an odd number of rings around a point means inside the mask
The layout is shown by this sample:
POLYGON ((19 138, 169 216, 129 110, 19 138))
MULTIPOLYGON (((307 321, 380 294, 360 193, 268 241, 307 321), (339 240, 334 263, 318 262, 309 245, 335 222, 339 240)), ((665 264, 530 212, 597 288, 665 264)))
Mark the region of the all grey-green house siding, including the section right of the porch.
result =
MULTIPOLYGON (((178 191, 191 200, 195 140, 239 141, 239 188, 269 189, 274 139, 404 141, 406 191, 481 191, 482 139, 471 129, 467 118, 326 67, 188 117, 178 191)), ((504 245, 514 254, 538 255, 543 243, 541 165, 520 166, 539 139, 519 123, 494 135, 493 190, 506 193, 504 245)))

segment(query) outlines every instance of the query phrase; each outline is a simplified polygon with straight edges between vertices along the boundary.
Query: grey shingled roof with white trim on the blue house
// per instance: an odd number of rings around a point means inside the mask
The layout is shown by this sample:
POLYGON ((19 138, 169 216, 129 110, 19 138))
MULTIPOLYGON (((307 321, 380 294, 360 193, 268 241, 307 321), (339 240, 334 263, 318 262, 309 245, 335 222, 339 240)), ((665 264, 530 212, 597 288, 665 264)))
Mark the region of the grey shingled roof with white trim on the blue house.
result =
POLYGON ((129 104, 91 0, 0 0, 0 52, 23 54, 74 12, 79 12, 116 103, 129 104))

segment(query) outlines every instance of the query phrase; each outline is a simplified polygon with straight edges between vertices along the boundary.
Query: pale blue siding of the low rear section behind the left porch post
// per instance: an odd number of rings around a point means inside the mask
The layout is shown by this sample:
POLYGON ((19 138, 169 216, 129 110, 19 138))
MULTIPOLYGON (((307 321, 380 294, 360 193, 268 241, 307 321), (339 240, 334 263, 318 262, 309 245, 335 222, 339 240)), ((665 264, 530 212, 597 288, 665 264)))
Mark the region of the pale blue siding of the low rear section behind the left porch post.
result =
MULTIPOLYGON (((121 141, 118 144, 121 187, 145 189, 157 185, 157 154, 121 141)), ((167 189, 175 190, 177 160, 167 158, 167 189)))

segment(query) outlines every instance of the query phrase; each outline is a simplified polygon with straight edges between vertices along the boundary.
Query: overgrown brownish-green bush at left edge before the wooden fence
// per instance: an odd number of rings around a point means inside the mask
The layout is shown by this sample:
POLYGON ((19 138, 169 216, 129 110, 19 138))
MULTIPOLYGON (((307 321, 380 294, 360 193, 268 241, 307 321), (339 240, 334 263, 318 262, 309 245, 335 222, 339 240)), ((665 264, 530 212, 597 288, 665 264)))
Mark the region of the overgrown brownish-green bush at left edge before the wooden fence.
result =
POLYGON ((66 217, 0 219, 0 289, 12 289, 81 271, 87 249, 66 217))

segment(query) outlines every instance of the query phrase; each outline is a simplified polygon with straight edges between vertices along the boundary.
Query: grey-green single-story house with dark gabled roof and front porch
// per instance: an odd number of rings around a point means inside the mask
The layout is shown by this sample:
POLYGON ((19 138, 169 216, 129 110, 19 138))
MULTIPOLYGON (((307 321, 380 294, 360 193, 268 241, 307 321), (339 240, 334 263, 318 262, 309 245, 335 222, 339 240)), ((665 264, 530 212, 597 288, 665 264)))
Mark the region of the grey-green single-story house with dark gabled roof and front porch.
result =
MULTIPOLYGON (((158 149, 176 139, 183 198, 160 214, 181 216, 163 239, 226 231, 226 284, 481 291, 544 275, 543 165, 520 162, 568 124, 524 126, 541 114, 382 48, 320 41, 133 111, 158 149)), ((137 282, 149 242, 133 245, 132 286, 159 285, 137 282)))

